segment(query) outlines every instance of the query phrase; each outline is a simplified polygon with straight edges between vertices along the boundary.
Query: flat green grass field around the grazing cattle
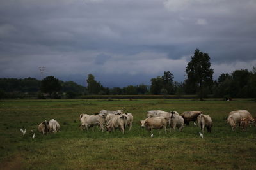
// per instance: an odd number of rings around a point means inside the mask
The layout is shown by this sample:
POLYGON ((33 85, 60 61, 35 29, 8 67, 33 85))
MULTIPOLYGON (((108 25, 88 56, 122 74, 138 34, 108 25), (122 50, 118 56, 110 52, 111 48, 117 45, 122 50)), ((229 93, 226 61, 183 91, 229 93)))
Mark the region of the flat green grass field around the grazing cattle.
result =
POLYGON ((256 115, 250 99, 198 101, 196 99, 77 99, 0 101, 0 169, 255 169, 256 127, 232 132, 225 122, 230 111, 247 109, 256 115), (79 114, 126 108, 134 115, 132 131, 123 135, 81 131, 79 114), (200 138, 192 123, 184 131, 150 138, 139 120, 147 110, 202 110, 211 115, 212 133, 200 138), (43 120, 60 122, 61 132, 42 136, 43 120), (22 136, 19 128, 26 129, 22 136), (35 139, 29 131, 36 131, 35 139))

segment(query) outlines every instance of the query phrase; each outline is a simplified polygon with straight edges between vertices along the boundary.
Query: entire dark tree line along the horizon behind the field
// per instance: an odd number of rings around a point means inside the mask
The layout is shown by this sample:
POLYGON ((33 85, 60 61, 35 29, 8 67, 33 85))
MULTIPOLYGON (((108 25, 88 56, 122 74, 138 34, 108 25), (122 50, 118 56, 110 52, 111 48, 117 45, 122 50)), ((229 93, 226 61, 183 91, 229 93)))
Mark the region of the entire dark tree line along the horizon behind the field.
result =
POLYGON ((204 97, 254 97, 256 98, 256 67, 252 71, 236 70, 231 74, 223 73, 218 80, 213 80, 214 70, 211 68, 211 58, 207 52, 196 49, 186 67, 186 80, 173 81, 170 71, 164 71, 163 76, 152 78, 151 85, 128 85, 127 87, 104 87, 96 81, 93 74, 88 74, 87 86, 77 85, 73 81, 63 82, 48 76, 42 81, 35 78, 0 78, 0 97, 15 98, 24 94, 35 94, 38 98, 76 98, 81 95, 184 95, 197 94, 204 97))

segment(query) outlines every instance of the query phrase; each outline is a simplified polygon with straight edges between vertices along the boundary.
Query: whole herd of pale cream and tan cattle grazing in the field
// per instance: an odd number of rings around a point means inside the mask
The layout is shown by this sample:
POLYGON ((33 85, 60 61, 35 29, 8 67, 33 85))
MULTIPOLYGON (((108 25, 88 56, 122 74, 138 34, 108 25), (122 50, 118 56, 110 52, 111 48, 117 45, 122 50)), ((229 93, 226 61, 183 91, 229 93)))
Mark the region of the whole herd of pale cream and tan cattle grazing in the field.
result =
MULTIPOLYGON (((152 129, 164 128, 166 134, 167 127, 169 127, 170 132, 171 129, 175 131, 176 128, 181 132, 184 124, 189 125, 191 121, 193 121, 195 125, 197 121, 203 133, 205 128, 207 128, 208 132, 211 132, 212 119, 209 115, 204 115, 202 111, 185 111, 179 115, 177 111, 166 112, 162 110, 150 110, 147 111, 147 118, 141 120, 140 123, 141 127, 147 129, 148 132, 151 132, 152 129)), ((229 113, 226 121, 230 124, 233 131, 237 125, 246 131, 248 124, 255 122, 255 119, 247 110, 236 110, 229 113)), ((104 129, 108 132, 114 132, 115 129, 120 129, 124 134, 125 129, 128 127, 129 131, 131 131, 133 115, 131 113, 124 113, 123 110, 102 110, 100 113, 93 115, 81 114, 80 122, 81 129, 86 129, 87 131, 89 128, 92 128, 94 132, 94 127, 99 126, 102 132, 104 129)), ((56 133, 60 131, 60 124, 54 119, 49 122, 45 120, 38 125, 38 131, 43 135, 48 132, 56 133)))

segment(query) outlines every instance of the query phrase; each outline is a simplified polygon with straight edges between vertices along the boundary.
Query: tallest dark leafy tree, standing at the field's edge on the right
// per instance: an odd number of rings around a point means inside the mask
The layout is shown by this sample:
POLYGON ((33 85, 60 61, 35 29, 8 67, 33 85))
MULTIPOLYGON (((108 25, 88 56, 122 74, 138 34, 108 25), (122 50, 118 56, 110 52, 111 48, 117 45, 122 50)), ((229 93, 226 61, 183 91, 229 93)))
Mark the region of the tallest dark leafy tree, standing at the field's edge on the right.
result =
POLYGON ((212 75, 214 71, 211 69, 208 53, 203 53, 196 49, 194 56, 191 57, 191 61, 188 62, 186 73, 188 76, 186 83, 194 85, 195 89, 198 87, 197 91, 199 92, 200 100, 202 101, 204 89, 211 86, 213 83, 212 75))

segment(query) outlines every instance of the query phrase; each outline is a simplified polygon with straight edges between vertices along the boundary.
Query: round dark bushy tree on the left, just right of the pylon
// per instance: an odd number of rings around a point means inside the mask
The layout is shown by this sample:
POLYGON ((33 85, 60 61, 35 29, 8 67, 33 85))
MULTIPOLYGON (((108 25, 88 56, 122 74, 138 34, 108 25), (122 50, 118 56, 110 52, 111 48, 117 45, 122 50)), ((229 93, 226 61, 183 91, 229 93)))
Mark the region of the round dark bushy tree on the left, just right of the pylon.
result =
POLYGON ((54 76, 47 76, 41 81, 40 89, 44 93, 49 93, 52 97, 53 92, 59 92, 61 90, 61 84, 58 78, 54 78, 54 76))

